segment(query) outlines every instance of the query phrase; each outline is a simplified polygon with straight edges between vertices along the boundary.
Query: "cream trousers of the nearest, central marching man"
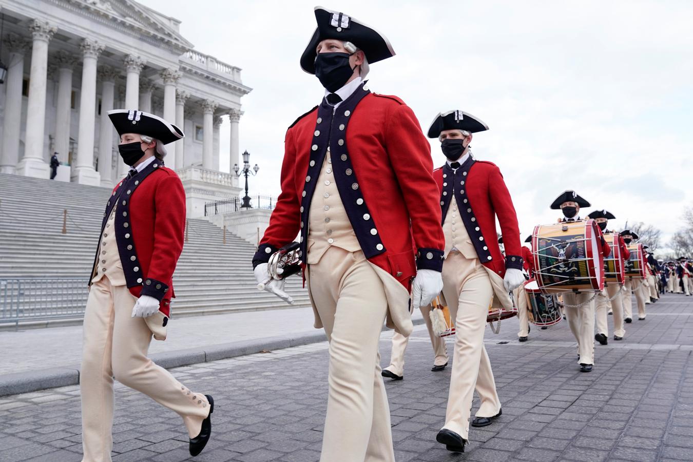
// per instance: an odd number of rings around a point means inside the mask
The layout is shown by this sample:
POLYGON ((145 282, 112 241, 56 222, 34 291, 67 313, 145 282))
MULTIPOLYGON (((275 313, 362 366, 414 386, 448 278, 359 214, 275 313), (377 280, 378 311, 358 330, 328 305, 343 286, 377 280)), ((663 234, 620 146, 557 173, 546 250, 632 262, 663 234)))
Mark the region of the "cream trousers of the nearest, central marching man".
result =
POLYGON ((330 247, 308 265, 308 290, 330 342, 322 462, 394 461, 380 330, 387 299, 362 251, 330 247))

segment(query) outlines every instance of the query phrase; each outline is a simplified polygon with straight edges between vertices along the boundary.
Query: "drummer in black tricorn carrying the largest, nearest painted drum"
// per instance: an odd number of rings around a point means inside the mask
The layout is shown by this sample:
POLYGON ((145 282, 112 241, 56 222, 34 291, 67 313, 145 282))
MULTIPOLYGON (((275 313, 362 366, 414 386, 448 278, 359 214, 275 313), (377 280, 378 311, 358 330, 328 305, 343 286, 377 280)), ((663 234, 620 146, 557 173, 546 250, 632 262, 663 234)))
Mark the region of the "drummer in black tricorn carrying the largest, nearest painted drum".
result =
MULTIPOLYGON (((589 207, 590 203, 583 197, 575 193, 574 190, 565 190, 559 197, 554 199, 551 204, 552 210, 561 210, 563 219, 561 222, 575 222, 581 220, 579 213, 581 207, 589 207)), ((599 233, 600 249, 604 256, 611 253, 602 230, 597 228, 599 233)), ((565 318, 568 319, 568 326, 577 340, 578 363, 581 372, 592 371, 595 362, 595 298, 596 294, 591 292, 564 292, 563 303, 565 318)))

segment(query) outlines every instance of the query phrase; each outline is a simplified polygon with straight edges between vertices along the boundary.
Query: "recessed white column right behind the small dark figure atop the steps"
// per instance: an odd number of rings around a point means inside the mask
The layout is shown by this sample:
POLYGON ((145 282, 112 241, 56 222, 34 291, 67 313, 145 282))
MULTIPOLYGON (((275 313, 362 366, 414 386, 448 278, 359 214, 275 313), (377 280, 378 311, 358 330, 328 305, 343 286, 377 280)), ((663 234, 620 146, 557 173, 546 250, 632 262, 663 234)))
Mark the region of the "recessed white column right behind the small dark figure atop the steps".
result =
POLYGON ((55 152, 58 159, 65 163, 70 151, 70 112, 72 103, 72 69, 77 64, 77 57, 59 51, 55 58, 58 65, 58 98, 55 104, 55 152))

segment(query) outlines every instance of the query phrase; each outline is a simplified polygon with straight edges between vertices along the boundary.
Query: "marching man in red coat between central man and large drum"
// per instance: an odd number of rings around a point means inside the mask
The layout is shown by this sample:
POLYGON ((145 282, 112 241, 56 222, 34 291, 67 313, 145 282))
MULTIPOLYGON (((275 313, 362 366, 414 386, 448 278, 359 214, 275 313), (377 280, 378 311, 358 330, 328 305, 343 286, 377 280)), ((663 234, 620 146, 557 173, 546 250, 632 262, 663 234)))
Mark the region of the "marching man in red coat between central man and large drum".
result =
POLYGON ((472 134, 484 130, 488 125, 459 110, 438 114, 428 129, 428 137, 441 141, 448 159, 433 174, 440 190, 436 208, 442 210, 445 234, 443 295, 455 319, 455 361, 445 425, 436 439, 453 452, 464 452, 468 441, 475 388, 481 405, 473 427, 491 425, 502 413, 484 348, 486 317, 491 301, 494 308, 509 308, 509 292, 525 281, 520 231, 505 181, 493 163, 471 157, 472 134), (498 247, 496 217, 505 259, 498 247))

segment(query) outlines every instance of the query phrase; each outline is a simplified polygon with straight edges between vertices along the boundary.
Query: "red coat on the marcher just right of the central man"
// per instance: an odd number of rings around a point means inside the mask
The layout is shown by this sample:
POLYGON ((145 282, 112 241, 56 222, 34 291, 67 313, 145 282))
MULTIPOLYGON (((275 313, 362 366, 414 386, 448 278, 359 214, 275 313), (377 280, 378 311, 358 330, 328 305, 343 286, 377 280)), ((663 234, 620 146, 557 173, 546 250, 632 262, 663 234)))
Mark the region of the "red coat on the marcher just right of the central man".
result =
POLYGON ((493 269, 500 277, 505 276, 506 267, 522 269, 517 214, 498 167, 491 162, 475 161, 470 156, 454 172, 446 163, 434 170, 433 176, 439 188, 443 217, 454 189, 459 215, 482 265, 493 269), (498 246, 496 216, 505 246, 505 261, 498 246))

